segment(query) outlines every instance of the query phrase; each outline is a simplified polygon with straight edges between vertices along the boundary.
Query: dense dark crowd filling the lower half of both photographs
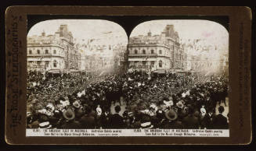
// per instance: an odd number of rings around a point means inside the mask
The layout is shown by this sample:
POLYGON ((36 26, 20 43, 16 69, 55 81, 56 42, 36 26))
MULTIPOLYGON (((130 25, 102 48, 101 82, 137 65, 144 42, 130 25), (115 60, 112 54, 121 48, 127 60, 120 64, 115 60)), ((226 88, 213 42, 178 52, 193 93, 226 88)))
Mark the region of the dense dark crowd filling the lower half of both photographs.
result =
POLYGON ((227 95, 225 75, 164 74, 149 79, 140 72, 29 72, 27 128, 226 129, 229 121, 221 103, 226 105, 227 95))

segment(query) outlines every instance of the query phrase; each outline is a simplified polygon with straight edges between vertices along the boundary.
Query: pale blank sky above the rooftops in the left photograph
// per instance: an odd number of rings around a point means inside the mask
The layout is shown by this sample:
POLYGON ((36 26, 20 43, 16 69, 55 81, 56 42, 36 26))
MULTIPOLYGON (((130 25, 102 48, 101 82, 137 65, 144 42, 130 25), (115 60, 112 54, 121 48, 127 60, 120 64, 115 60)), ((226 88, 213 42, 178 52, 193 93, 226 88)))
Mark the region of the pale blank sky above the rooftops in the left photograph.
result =
POLYGON ((59 26, 67 24, 68 30, 73 34, 77 42, 83 39, 105 38, 111 43, 128 43, 128 37, 125 30, 117 23, 102 19, 52 19, 39 22, 31 27, 27 33, 28 37, 41 35, 45 31, 46 35, 54 34, 59 26), (111 38, 116 37, 116 38, 111 38), (112 40, 114 39, 114 40, 112 40))

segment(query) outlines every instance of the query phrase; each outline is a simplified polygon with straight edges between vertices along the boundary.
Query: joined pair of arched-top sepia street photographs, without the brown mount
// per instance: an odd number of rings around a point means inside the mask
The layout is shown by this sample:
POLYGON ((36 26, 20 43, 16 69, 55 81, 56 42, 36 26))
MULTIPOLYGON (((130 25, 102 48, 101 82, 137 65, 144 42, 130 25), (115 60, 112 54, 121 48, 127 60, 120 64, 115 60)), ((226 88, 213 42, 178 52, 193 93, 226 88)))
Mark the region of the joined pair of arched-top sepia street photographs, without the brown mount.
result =
POLYGON ((39 22, 27 33, 27 135, 221 129, 228 137, 228 68, 229 32, 208 20, 151 20, 130 37, 101 19, 39 22))

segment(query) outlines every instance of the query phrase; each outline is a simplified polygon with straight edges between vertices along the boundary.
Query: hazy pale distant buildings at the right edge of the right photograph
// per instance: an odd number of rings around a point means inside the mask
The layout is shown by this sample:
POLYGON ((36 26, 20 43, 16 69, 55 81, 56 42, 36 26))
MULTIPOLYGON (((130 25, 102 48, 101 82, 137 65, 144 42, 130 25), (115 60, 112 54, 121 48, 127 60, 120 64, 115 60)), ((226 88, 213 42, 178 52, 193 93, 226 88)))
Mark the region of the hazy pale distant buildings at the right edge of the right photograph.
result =
POLYGON ((186 70, 189 72, 210 75, 218 72, 228 73, 228 55, 223 48, 209 44, 205 39, 183 41, 186 58, 186 70))

